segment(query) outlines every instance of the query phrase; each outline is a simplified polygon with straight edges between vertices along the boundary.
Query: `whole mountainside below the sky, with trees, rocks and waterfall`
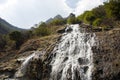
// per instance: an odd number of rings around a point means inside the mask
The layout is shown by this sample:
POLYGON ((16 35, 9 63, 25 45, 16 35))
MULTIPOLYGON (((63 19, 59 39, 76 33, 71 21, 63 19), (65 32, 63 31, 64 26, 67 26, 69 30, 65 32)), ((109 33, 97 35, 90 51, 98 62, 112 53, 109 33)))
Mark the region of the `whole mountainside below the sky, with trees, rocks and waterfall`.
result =
POLYGON ((119 5, 57 15, 25 32, 0 19, 0 80, 120 80, 119 5))

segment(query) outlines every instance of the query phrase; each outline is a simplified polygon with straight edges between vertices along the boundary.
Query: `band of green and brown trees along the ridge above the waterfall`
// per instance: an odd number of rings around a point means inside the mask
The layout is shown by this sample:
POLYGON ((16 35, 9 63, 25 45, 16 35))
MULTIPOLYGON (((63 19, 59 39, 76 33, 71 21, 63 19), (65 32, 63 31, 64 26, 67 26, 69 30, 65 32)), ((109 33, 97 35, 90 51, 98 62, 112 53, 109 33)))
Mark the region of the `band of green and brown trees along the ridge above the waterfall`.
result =
MULTIPOLYGON (((112 29, 116 26, 116 22, 120 22, 120 1, 109 0, 104 5, 100 5, 91 11, 85 11, 79 16, 71 13, 68 17, 63 18, 60 15, 49 19, 49 21, 41 22, 31 30, 24 32, 10 31, 7 35, 0 35, 0 49, 8 49, 8 47, 19 49, 19 47, 28 39, 34 37, 43 37, 56 33, 56 30, 65 24, 87 23, 96 28, 112 29)), ((5 26, 0 22, 0 31, 5 26)), ((6 27, 4 27, 6 28, 6 27)), ((6 28, 4 32, 7 32, 6 28)), ((7 32, 8 33, 8 32, 7 32)))

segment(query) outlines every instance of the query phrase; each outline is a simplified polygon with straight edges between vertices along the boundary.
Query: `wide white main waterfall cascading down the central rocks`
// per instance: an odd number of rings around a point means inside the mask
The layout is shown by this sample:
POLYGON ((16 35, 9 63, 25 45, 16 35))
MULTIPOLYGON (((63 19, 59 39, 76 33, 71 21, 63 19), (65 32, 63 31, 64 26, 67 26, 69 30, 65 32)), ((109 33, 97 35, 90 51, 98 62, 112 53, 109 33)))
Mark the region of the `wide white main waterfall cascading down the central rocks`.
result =
POLYGON ((68 26, 52 52, 50 80, 92 80, 94 43, 95 34, 82 32, 78 24, 68 26))

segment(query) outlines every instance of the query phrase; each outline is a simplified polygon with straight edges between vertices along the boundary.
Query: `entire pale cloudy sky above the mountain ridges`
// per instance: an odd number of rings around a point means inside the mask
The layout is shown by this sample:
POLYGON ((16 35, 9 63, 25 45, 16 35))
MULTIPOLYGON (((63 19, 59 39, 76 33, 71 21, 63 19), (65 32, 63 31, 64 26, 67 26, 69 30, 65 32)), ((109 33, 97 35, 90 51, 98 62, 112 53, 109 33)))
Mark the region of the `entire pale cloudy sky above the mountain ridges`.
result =
POLYGON ((41 21, 71 12, 80 15, 105 0, 0 0, 0 17, 19 28, 29 29, 41 21))

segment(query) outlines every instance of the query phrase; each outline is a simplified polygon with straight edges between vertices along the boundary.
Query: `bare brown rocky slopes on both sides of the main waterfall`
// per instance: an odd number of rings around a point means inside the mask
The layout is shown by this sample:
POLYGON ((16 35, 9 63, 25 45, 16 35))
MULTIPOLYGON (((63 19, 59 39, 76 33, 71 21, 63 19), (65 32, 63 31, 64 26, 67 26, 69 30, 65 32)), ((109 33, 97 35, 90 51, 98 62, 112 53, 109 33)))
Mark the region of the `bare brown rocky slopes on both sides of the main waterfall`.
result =
MULTIPOLYGON (((81 24, 81 26, 87 27, 85 24, 81 24)), ((29 39, 19 50, 1 52, 0 79, 13 78, 25 58, 32 53, 39 54, 43 52, 43 55, 40 56, 40 58, 33 58, 29 62, 25 76, 31 78, 27 80, 35 80, 36 78, 41 79, 42 75, 41 80, 48 80, 51 72, 49 61, 52 58, 52 56, 49 55, 55 45, 61 42, 60 39, 62 39, 62 34, 57 32, 64 30, 63 26, 57 28, 59 29, 55 30, 56 32, 53 35, 29 39)), ((92 74, 94 78, 92 80, 119 80, 119 32, 119 28, 114 28, 105 32, 95 32, 99 45, 91 48, 93 50, 94 63, 94 72, 92 74)), ((70 31, 68 31, 68 33, 70 33, 70 31)), ((19 75, 19 77, 22 77, 22 75, 19 75)))

